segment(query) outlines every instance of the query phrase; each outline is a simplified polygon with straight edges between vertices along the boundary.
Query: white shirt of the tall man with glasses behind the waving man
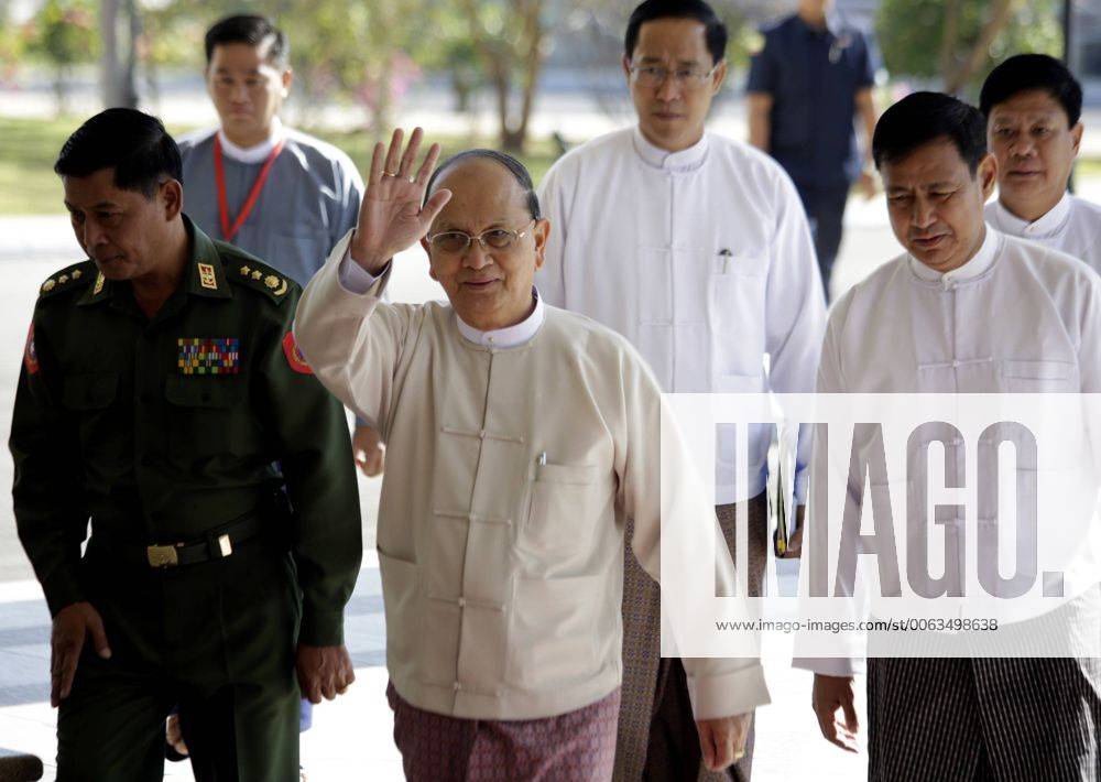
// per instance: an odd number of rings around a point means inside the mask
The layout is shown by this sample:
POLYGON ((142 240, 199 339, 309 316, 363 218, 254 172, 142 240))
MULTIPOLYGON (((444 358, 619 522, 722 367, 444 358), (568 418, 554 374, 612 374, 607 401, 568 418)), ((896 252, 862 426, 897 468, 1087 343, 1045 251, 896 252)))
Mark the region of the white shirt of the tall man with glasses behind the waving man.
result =
MULTIPOLYGON (((539 200, 550 219, 539 292, 625 336, 664 391, 814 389, 821 278, 799 197, 767 155, 711 132, 668 152, 635 127, 564 155, 539 200)), ((742 497, 728 435, 718 439, 720 503, 755 496, 766 479, 771 432, 751 432, 742 497)), ((800 460, 800 498, 805 477, 800 460)))

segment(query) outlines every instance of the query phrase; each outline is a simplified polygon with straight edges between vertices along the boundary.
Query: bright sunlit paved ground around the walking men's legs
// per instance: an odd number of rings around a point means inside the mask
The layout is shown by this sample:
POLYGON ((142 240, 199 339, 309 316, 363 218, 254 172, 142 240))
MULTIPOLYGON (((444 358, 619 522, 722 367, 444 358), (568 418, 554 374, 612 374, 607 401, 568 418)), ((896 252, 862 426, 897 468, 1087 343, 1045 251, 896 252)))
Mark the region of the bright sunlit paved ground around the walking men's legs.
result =
MULTIPOLYGON (((318 706, 314 727, 302 737, 302 759, 312 782, 403 779, 384 695, 385 627, 372 554, 368 552, 345 622, 356 683, 347 695, 318 706)), ((809 707, 810 675, 789 669, 791 650, 783 639, 766 648, 765 660, 773 704, 757 716, 754 779, 863 779, 864 754, 844 754, 818 736, 809 707)), ((50 620, 37 584, 0 584, 0 747, 37 754, 46 764, 45 779, 53 780, 56 713, 48 704, 48 665, 50 620)), ((193 779, 187 763, 168 763, 165 776, 193 779)))

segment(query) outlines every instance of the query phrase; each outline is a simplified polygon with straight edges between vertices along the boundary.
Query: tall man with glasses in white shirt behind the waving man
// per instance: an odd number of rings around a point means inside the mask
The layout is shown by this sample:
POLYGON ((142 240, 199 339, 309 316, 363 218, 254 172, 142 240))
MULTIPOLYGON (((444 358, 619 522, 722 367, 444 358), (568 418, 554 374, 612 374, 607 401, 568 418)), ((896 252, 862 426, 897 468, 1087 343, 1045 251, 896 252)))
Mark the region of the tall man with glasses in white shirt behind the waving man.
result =
MULTIPOLYGON (((811 391, 826 313, 798 194, 767 155, 704 127, 727 73, 724 26, 699 0, 648 0, 625 39, 637 124, 567 153, 547 173, 539 292, 625 336, 663 391, 811 391)), ((721 456, 732 456, 733 439, 719 441, 720 521, 732 539, 734 503, 749 502, 751 584, 766 556, 770 441, 771 432, 754 432, 751 464, 737 465, 749 473, 744 497, 735 496, 735 465, 721 456)), ((800 464, 800 502, 804 478, 800 464)), ((695 778, 684 674, 659 658, 656 590, 630 556, 625 584, 617 775, 695 778)), ((737 774, 749 772, 748 754, 737 774)))

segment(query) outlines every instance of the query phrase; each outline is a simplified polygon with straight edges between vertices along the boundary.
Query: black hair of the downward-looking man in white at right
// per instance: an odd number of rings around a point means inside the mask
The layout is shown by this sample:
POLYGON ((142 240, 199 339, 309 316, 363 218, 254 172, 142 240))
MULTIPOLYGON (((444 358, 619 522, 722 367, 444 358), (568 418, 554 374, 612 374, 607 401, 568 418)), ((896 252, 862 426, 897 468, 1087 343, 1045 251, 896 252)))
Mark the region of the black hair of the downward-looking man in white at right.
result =
POLYGON ((973 175, 986 155, 986 122, 979 109, 942 93, 914 93, 889 108, 875 123, 875 167, 897 163, 938 140, 951 141, 973 175))

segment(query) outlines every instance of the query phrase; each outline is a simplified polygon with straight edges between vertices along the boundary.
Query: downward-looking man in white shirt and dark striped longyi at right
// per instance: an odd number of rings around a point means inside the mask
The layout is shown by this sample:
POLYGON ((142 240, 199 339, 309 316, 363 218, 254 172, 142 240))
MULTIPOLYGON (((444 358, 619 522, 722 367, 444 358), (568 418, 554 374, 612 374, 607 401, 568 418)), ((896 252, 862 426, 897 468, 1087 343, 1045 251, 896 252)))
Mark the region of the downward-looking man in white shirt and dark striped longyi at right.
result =
MULTIPOLYGON (((1101 278, 983 222, 998 163, 981 113, 911 95, 880 119, 873 153, 907 253, 831 311, 818 391, 1101 391, 1101 278)), ((946 446, 951 469, 960 447, 946 446)), ((822 735, 849 751, 858 664, 796 661, 815 671, 822 735)), ((1097 659, 869 659, 869 779, 1101 779, 1099 693, 1097 659)))

